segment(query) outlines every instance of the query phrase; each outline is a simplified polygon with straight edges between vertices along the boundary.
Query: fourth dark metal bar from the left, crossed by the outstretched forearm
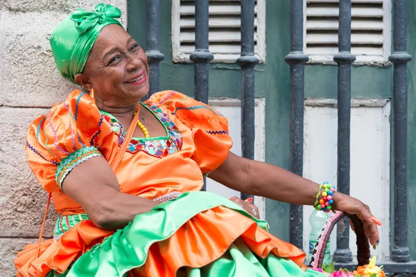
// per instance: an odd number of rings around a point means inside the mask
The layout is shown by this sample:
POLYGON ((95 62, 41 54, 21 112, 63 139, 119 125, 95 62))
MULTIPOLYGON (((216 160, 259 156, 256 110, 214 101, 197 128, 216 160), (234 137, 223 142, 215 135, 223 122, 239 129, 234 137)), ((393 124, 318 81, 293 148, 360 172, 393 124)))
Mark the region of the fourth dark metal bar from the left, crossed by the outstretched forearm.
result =
MULTIPOLYGON (((291 53, 285 61, 291 66, 291 171, 303 175, 304 144, 304 67, 308 56, 303 53, 303 0, 291 0, 291 53)), ((291 204, 289 240, 302 249, 303 210, 291 204)))

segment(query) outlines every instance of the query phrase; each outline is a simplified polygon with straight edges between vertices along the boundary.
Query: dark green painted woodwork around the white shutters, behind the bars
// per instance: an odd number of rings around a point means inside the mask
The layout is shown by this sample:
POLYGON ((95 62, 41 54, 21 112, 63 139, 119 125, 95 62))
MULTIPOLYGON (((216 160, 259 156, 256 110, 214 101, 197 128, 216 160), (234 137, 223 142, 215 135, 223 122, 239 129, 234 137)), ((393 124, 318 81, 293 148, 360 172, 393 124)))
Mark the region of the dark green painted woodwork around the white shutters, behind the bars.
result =
MULTIPOLYGON (((171 62, 171 1, 161 1, 160 51, 166 59, 160 65, 160 89, 175 89, 193 95, 193 64, 171 62)), ((284 57, 289 53, 290 1, 266 1, 266 64, 257 66, 256 96, 266 97, 266 161, 289 166, 289 67, 284 57)), ((146 1, 128 2, 130 34, 146 48, 146 1)), ((416 57, 416 3, 408 0, 410 55, 416 57)), ((416 259, 416 73, 409 64, 409 246, 416 259)), ((211 64, 209 95, 211 97, 239 97, 241 72, 235 64, 211 64)), ((305 69, 306 98, 336 98, 337 69, 331 65, 307 65, 305 69)), ((392 67, 354 66, 352 69, 353 98, 390 98, 392 95, 392 67)), ((319 181, 319 180, 318 180, 319 181)), ((270 231, 288 240, 288 204, 266 201, 266 219, 270 231), (284 222, 284 224, 281 224, 284 222)))

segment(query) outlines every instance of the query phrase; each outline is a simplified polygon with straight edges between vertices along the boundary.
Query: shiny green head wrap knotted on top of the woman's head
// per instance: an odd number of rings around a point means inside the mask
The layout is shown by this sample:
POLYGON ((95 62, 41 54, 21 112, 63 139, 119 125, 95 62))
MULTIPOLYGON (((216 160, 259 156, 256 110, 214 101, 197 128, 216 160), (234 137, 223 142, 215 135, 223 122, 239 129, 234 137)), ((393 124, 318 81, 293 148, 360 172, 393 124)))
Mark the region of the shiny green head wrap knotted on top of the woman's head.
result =
POLYGON ((53 58, 65 79, 76 83, 75 75, 83 72, 89 51, 101 30, 110 24, 121 26, 116 20, 120 17, 118 8, 98 4, 95 12, 76 10, 53 30, 50 41, 53 58))

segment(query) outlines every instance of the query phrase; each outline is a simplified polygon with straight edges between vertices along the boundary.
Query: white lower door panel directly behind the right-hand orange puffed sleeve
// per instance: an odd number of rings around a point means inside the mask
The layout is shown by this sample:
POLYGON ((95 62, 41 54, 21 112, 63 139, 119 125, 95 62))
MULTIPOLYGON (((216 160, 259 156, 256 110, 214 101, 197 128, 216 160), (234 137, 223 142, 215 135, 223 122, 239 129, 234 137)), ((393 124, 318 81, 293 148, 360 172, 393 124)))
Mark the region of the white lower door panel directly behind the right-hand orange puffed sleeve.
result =
MULTIPOLYGON (((210 99, 209 105, 218 110, 228 119, 229 135, 232 137, 234 145, 231 151, 241 156, 241 101, 239 99, 210 99)), ((257 98, 255 101, 255 147, 254 159, 264 161, 264 143, 265 143, 265 118, 264 118, 264 99, 257 98)), ((240 193, 236 190, 227 188, 216 181, 207 178, 207 191, 218 193, 224 197, 233 196, 240 197, 240 193)), ((263 197, 254 197, 254 204, 259 207, 260 218, 265 218, 265 201, 263 197)))

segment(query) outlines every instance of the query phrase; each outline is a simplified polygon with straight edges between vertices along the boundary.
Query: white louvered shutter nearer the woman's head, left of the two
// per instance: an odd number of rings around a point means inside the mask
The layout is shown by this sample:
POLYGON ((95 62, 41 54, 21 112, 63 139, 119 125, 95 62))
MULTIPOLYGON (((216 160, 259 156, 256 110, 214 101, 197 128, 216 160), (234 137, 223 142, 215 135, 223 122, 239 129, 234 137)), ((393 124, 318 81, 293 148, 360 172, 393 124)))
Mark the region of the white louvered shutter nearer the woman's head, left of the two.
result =
MULTIPOLYGON (((265 42, 259 44, 259 37, 264 41, 264 35, 259 35, 258 3, 254 18, 254 52, 261 57, 265 51, 265 42)), ((240 0, 210 0, 209 1, 209 51, 214 54, 215 61, 235 62, 241 52, 241 3, 240 0)), ((188 58, 195 50, 195 1, 180 0, 179 6, 179 39, 177 50, 182 57, 188 58)), ((174 16, 174 14, 173 14, 174 16)), ((176 26, 173 26, 176 28, 176 26)), ((264 26, 260 28, 261 32, 264 26)), ((175 39, 174 39, 175 40, 175 39)), ((260 58, 261 58, 260 57, 260 58)), ((263 60, 261 58, 261 60, 263 60)))

